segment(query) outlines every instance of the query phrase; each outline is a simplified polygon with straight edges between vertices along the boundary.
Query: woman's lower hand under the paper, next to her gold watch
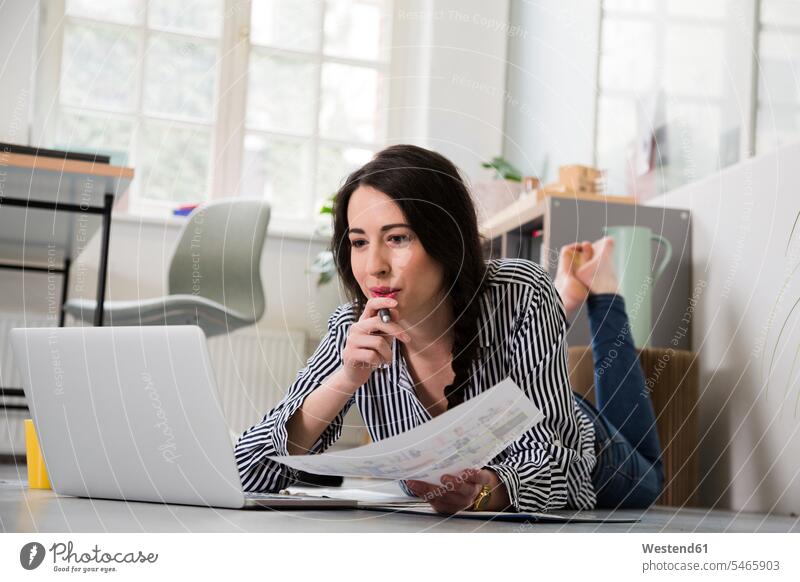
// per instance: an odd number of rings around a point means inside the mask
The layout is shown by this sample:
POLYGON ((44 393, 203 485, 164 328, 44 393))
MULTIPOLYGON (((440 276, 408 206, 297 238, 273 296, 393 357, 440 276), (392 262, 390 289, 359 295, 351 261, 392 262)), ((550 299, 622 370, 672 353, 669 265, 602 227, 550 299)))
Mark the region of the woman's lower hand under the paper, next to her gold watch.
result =
POLYGON ((414 480, 406 481, 406 485, 437 512, 448 515, 469 510, 484 485, 491 490, 485 510, 503 511, 509 505, 505 485, 491 469, 467 469, 458 475, 444 475, 441 485, 414 480))

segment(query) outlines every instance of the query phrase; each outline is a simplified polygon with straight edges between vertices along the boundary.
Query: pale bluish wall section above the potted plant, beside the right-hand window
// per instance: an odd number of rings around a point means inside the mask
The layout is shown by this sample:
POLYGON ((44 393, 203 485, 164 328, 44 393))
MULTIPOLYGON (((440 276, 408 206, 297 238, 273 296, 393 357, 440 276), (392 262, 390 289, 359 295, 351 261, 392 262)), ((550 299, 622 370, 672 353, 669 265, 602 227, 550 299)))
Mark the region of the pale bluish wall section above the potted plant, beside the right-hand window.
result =
POLYGON ((592 164, 600 2, 511 3, 504 155, 525 174, 592 164))

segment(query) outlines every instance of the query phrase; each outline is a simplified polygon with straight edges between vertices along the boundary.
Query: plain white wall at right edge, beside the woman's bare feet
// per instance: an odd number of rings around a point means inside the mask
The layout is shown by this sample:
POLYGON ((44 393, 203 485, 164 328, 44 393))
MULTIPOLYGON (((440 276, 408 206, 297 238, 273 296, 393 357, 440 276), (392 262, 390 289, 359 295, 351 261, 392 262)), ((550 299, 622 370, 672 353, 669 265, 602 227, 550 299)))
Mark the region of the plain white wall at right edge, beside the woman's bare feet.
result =
POLYGON ((692 211, 700 501, 800 513, 800 144, 648 205, 692 211))

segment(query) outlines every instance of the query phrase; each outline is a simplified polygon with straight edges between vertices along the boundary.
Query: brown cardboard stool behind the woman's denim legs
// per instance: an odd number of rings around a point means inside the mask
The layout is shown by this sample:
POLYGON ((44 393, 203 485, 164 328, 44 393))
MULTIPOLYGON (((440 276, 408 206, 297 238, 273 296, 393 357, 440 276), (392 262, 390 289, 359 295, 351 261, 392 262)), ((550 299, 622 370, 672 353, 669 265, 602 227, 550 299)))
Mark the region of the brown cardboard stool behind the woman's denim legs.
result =
MULTIPOLYGON (((698 484, 697 401, 699 376, 695 352, 641 348, 642 366, 656 413, 664 462, 664 490, 659 505, 696 505, 698 484)), ((596 403, 594 362, 589 346, 568 350, 572 389, 596 403)))

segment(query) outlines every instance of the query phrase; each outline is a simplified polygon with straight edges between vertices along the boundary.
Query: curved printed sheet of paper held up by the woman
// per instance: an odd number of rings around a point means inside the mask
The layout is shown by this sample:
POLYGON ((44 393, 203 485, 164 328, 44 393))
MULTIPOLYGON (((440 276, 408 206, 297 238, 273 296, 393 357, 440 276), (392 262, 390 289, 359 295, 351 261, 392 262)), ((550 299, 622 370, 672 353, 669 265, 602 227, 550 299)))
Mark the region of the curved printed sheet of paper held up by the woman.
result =
POLYGON ((543 418, 510 379, 423 425, 363 447, 319 455, 269 458, 317 475, 416 479, 480 468, 543 418))

